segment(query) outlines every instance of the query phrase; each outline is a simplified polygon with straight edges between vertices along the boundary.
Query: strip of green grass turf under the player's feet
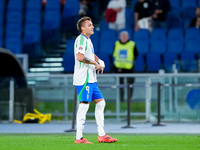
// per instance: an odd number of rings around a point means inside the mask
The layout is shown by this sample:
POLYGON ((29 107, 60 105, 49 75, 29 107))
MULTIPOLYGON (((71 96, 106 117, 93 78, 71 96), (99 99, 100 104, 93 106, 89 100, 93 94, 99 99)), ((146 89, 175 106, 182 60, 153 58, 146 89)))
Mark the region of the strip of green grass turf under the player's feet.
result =
POLYGON ((75 134, 0 134, 0 150, 196 150, 200 135, 110 134, 116 143, 98 143, 96 134, 84 134, 93 144, 74 144, 75 134))

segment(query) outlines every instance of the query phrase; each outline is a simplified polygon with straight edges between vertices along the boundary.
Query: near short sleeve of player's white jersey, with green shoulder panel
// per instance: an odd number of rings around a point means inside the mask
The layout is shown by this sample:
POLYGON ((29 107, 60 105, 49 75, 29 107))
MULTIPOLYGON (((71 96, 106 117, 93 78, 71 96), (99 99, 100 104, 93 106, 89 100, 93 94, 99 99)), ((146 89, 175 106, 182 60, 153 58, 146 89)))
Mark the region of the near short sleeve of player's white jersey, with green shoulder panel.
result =
POLYGON ((84 36, 80 36, 79 40, 77 40, 77 42, 75 43, 76 45, 76 54, 81 53, 81 54, 85 54, 85 50, 86 50, 86 39, 84 36))

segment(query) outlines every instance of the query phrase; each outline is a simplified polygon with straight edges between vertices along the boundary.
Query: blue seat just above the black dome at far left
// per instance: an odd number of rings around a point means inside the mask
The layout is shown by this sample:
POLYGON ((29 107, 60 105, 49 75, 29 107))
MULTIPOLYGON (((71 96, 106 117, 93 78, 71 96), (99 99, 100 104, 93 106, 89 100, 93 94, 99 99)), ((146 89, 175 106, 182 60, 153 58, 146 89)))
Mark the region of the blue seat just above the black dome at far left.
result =
POLYGON ((5 48, 12 51, 14 54, 21 54, 22 41, 21 38, 9 38, 5 42, 5 48))

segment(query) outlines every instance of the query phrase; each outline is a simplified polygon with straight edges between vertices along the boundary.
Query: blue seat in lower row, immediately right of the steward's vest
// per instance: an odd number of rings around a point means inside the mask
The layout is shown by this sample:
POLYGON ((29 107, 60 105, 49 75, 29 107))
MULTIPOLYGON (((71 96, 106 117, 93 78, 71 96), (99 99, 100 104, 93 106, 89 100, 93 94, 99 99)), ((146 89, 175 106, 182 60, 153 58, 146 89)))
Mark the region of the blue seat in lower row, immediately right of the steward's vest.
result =
POLYGON ((142 54, 139 54, 135 60, 134 72, 145 72, 145 61, 142 54))

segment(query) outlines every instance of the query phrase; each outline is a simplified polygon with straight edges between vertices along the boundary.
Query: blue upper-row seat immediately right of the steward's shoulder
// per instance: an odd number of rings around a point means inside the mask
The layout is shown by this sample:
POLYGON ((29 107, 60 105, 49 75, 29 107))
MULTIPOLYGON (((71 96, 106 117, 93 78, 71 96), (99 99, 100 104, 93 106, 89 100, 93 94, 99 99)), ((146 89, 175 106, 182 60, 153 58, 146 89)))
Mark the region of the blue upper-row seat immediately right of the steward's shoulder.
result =
POLYGON ((149 40, 135 41, 139 54, 147 54, 149 52, 149 40))

